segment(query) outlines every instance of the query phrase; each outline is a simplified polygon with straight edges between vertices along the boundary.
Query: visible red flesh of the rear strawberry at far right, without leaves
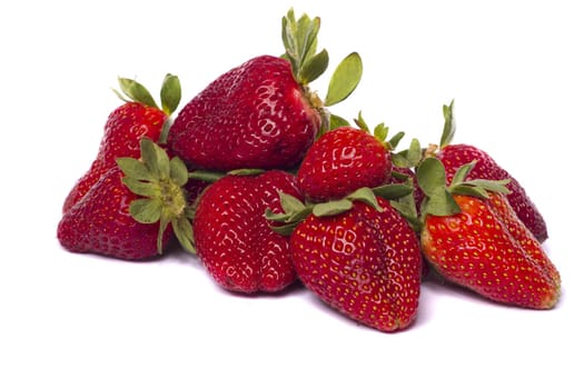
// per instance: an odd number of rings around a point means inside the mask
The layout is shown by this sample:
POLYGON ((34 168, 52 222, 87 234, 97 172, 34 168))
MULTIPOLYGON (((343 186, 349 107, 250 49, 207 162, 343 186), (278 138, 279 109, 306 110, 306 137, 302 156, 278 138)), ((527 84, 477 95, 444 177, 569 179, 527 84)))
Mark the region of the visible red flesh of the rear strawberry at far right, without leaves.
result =
POLYGON ((438 151, 436 158, 444 163, 448 182, 461 166, 474 160, 476 160, 476 166, 471 170, 467 179, 511 179, 511 182, 507 184, 511 193, 507 197, 515 213, 517 213, 517 217, 533 232, 537 240, 544 241, 547 239, 545 220, 535 207, 535 203, 527 196, 525 189, 485 151, 468 144, 449 144, 438 151))

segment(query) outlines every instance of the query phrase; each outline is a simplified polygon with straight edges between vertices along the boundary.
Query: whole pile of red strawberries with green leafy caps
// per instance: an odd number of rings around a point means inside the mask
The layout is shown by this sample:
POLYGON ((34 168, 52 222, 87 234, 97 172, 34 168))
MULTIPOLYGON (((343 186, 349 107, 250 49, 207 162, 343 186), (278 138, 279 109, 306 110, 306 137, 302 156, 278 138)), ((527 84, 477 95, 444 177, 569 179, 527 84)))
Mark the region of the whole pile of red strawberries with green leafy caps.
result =
POLYGON ((502 303, 548 309, 561 280, 541 242, 545 221, 523 187, 485 151, 453 144, 453 104, 439 144, 330 113, 359 83, 347 56, 320 99, 328 67, 318 18, 283 18, 280 57, 227 71, 180 103, 168 74, 160 107, 120 79, 99 153, 62 208, 69 251, 123 260, 164 255, 176 239, 234 292, 301 281, 357 322, 414 322, 428 275, 502 303))

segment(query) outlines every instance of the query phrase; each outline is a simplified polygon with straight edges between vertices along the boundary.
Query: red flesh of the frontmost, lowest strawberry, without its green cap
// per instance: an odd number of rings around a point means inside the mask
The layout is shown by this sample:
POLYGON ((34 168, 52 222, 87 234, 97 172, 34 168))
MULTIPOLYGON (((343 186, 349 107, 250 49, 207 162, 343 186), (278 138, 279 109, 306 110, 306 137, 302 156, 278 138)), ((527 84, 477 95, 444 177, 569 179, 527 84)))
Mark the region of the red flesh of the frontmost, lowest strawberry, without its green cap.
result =
POLYGON ((382 331, 408 327, 419 298, 417 236, 388 201, 355 201, 333 217, 310 215, 290 242, 298 278, 323 301, 382 331))

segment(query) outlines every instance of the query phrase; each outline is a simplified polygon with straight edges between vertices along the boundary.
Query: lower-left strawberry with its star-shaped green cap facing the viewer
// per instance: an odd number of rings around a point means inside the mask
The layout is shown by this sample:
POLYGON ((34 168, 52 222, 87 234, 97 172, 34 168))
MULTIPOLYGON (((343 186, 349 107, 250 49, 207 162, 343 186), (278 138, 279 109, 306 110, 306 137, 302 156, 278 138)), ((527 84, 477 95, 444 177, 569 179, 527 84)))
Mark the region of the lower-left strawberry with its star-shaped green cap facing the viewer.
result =
POLYGON ((192 251, 192 230, 186 219, 181 187, 187 168, 169 160, 151 140, 140 142, 141 158, 120 158, 62 216, 57 238, 73 252, 93 252, 126 260, 160 255, 172 230, 192 251), (172 228, 170 228, 170 225, 172 228))

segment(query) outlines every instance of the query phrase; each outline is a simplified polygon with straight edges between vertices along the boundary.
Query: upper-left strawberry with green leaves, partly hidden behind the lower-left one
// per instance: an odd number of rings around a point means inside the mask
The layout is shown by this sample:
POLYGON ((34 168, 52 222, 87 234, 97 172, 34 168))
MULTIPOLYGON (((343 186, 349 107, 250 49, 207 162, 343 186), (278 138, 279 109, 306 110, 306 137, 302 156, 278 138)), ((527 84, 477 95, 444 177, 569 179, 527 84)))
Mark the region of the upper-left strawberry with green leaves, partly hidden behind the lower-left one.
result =
POLYGON ((176 76, 167 74, 162 83, 162 109, 158 108, 148 90, 140 83, 120 78, 120 89, 128 97, 118 97, 125 103, 110 114, 103 129, 103 137, 97 157, 89 170, 76 182, 67 196, 62 211, 66 213, 91 187, 116 166, 116 158, 140 156, 140 139, 158 141, 169 116, 180 100, 180 84, 176 76))

